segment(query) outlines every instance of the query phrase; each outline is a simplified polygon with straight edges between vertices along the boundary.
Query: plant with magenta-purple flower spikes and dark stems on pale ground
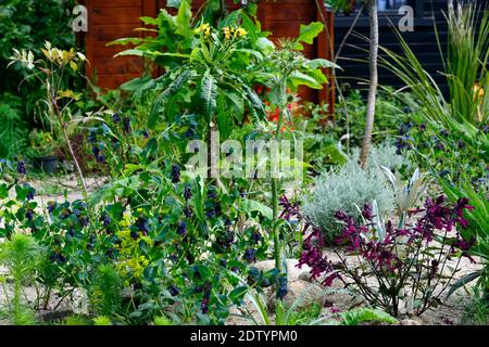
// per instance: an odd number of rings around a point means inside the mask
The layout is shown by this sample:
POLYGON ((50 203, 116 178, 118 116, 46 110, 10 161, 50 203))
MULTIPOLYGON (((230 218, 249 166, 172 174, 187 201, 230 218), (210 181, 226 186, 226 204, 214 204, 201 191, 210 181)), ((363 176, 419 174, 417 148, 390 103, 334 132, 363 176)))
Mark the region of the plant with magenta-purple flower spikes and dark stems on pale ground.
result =
MULTIPOLYGON (((340 259, 337 262, 323 254, 321 230, 305 220, 303 252, 298 267, 311 267, 311 277, 323 277, 325 286, 330 286, 335 279, 350 283, 347 285, 353 285, 371 305, 393 316, 399 316, 401 290, 411 291, 413 301, 417 303, 414 313, 421 314, 439 300, 449 285, 450 281, 446 284, 439 281, 447 261, 455 256, 465 256, 474 261, 469 252, 475 240, 464 240, 456 231, 456 228, 467 228, 464 211, 472 208, 467 198, 459 200, 453 206, 446 203, 444 196, 427 198, 423 209, 412 211, 411 217, 422 214, 413 224, 405 223, 402 229, 397 229, 388 221, 381 237, 377 234, 369 204, 363 206, 363 223, 337 211, 335 217, 344 228, 336 243, 346 249, 346 254, 340 254, 338 248, 334 248, 340 259), (429 252, 425 252, 428 248, 429 252), (347 265, 346 255, 358 256, 367 266, 352 268, 347 265), (367 284, 367 277, 374 277, 377 285, 367 284)), ((298 208, 290 204, 283 215, 289 214, 302 218, 298 208)), ((456 272, 457 269, 453 274, 456 272)))

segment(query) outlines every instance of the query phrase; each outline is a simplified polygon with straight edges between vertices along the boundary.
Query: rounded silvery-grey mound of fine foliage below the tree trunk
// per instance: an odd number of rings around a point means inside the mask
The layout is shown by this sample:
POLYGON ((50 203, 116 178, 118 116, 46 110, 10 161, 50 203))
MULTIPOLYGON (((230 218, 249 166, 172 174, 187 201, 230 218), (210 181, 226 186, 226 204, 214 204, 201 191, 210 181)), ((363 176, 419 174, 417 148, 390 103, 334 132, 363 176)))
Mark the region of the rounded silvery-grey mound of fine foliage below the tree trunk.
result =
POLYGON ((354 160, 330 169, 315 181, 315 189, 304 197, 305 216, 331 242, 340 234, 342 224, 335 218, 337 210, 360 218, 359 206, 377 202, 380 217, 388 216, 396 207, 394 194, 385 175, 377 167, 364 171, 354 160))

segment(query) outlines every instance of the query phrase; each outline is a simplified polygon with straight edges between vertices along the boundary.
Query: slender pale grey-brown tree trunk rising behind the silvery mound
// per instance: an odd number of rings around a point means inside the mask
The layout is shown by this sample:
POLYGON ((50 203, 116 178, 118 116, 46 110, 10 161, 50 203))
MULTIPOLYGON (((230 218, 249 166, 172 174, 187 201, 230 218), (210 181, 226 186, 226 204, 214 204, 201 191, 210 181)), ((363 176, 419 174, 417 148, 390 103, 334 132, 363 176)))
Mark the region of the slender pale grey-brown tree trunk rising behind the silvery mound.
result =
POLYGON ((372 131, 374 130, 375 102, 377 97, 378 72, 378 14, 377 0, 366 0, 368 16, 371 21, 371 49, 369 49, 369 73, 371 81, 368 88, 367 114, 365 119, 365 134, 363 137, 362 150, 360 152, 360 166, 366 167, 368 151, 371 149, 372 131))

